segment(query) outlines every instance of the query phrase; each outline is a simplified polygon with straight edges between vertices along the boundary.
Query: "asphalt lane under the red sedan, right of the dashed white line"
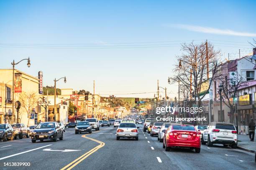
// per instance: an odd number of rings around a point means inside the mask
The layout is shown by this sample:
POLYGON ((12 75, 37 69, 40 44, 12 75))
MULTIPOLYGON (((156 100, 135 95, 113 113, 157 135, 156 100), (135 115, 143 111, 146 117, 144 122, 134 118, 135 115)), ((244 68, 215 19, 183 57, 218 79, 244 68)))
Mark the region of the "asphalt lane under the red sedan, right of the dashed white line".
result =
POLYGON ((249 152, 244 152, 223 145, 214 145, 207 147, 201 145, 201 152, 195 153, 194 150, 186 149, 171 149, 169 152, 162 148, 163 143, 157 140, 157 137, 146 135, 157 147, 157 150, 162 152, 169 158, 170 161, 177 162, 180 169, 247 169, 248 167, 255 168, 254 155, 249 152), (209 165, 211 165, 209 167, 209 165))

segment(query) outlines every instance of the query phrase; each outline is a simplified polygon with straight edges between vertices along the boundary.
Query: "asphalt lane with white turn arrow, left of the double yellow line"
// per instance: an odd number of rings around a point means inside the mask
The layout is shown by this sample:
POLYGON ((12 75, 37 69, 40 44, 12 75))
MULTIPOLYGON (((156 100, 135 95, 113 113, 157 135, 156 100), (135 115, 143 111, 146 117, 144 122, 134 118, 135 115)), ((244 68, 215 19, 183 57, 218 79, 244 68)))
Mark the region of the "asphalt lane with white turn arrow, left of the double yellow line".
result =
MULTIPOLYGON (((72 134, 72 130, 70 130, 64 132, 64 140, 62 141, 57 140, 57 142, 52 142, 46 140, 44 142, 30 142, 30 146, 33 146, 34 148, 38 147, 38 145, 51 146, 10 157, 5 160, 0 160, 0 167, 3 167, 4 162, 30 162, 30 167, 21 167, 21 169, 60 169, 70 160, 79 157, 84 152, 88 152, 97 146, 97 143, 83 138, 82 135, 83 134, 72 134), (77 151, 62 152, 65 151, 65 149, 77 151)), ((15 167, 9 167, 9 169, 12 168, 15 169, 15 167)))

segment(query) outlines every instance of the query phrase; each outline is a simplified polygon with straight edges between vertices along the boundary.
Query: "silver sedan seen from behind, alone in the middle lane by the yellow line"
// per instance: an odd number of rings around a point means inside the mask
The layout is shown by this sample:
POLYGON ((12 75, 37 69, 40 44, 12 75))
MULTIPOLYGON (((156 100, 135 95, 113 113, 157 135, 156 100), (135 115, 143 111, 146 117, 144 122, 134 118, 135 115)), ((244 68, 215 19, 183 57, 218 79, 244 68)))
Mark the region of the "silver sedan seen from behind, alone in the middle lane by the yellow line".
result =
POLYGON ((119 140, 120 137, 135 138, 138 140, 138 129, 135 123, 120 123, 116 131, 116 140, 119 140))

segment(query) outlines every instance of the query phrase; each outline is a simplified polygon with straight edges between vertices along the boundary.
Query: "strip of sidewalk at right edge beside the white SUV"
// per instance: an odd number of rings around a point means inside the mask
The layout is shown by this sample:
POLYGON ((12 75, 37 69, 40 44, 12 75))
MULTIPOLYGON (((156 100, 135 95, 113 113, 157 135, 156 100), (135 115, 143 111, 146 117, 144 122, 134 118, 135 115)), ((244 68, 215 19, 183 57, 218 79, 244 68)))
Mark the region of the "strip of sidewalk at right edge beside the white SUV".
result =
POLYGON ((245 150, 247 152, 256 153, 256 136, 254 136, 254 142, 250 141, 249 135, 238 134, 238 149, 245 150))

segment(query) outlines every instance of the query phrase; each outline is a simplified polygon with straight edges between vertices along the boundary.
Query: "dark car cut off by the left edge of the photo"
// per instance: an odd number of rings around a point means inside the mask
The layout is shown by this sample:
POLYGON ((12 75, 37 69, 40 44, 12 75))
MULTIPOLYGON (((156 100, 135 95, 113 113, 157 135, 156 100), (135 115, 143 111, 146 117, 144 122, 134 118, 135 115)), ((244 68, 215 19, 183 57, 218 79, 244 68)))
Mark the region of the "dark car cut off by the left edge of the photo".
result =
POLYGON ((0 124, 0 140, 3 142, 7 140, 14 140, 14 130, 10 124, 0 124))

